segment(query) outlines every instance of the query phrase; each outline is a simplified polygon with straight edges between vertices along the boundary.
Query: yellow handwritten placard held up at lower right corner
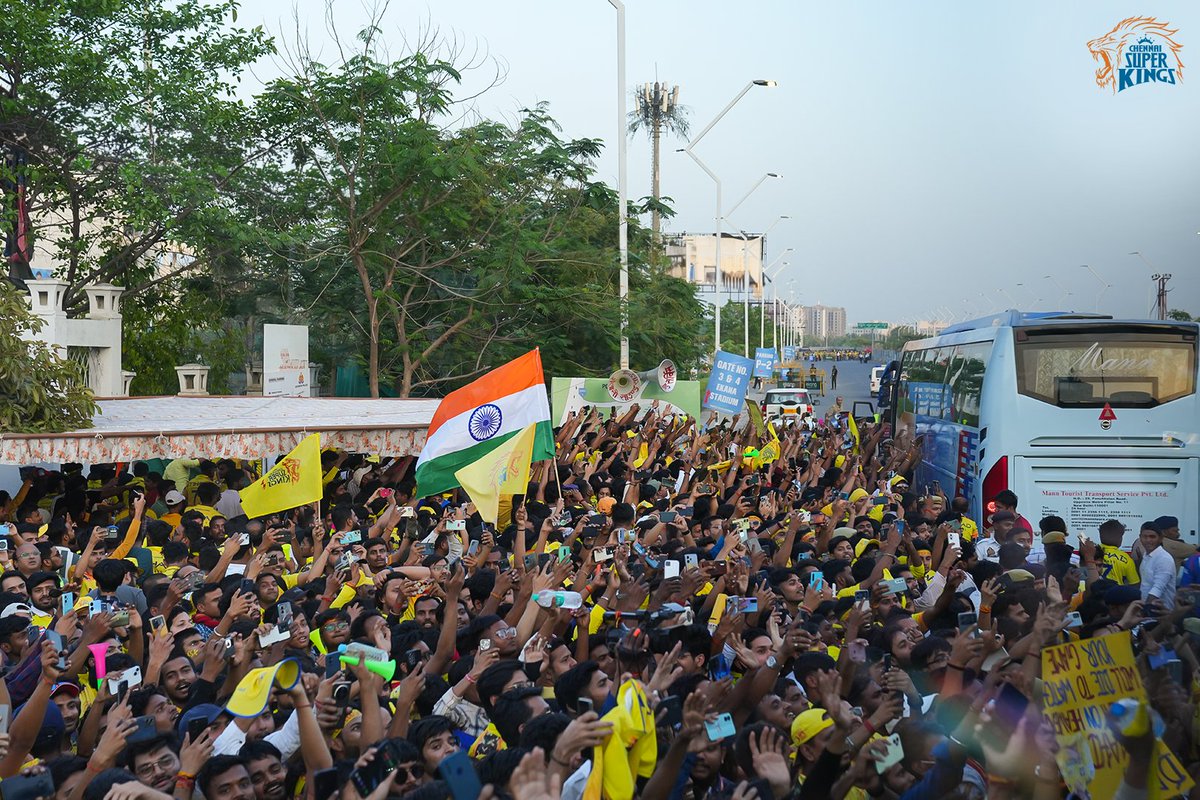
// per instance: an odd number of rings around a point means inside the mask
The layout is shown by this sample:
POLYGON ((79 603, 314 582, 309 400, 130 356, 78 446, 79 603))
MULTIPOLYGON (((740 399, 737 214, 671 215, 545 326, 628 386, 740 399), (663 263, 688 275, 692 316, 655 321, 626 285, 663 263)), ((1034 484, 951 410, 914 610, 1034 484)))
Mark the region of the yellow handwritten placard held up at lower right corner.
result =
MULTIPOLYGON (((1061 747, 1063 780, 1080 796, 1111 798, 1121 786, 1129 754, 1105 723, 1105 712, 1123 698, 1146 702, 1128 631, 1042 651, 1043 711, 1061 747)), ((1192 788, 1192 778, 1162 741, 1154 748, 1154 763, 1158 780, 1150 782, 1152 800, 1192 788)))

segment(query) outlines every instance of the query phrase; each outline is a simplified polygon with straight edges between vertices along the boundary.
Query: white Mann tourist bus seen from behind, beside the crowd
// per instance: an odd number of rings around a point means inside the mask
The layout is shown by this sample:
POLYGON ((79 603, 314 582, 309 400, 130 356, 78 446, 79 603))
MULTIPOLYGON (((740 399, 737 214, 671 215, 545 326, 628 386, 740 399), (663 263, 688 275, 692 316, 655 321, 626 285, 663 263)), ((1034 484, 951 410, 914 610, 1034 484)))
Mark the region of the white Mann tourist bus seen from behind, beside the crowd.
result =
MULTIPOLYGON (((1001 489, 1034 528, 1045 515, 1096 539, 1116 518, 1200 528, 1200 325, 1002 312, 910 342, 892 420, 924 437, 913 491, 937 481, 982 521, 1001 489)), ((982 525, 980 525, 982 527, 982 525)))

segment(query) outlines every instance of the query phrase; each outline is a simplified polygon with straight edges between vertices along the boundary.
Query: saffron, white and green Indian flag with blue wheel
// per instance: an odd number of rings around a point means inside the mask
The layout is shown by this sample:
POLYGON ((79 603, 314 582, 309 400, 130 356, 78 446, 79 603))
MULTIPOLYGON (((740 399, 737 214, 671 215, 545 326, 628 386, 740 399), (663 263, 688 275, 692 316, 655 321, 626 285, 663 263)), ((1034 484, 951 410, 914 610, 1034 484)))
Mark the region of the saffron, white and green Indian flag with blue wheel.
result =
POLYGON ((455 473, 479 461, 528 426, 536 426, 533 461, 554 457, 550 401, 541 354, 530 350, 450 392, 438 405, 416 462, 416 493, 458 486, 455 473))

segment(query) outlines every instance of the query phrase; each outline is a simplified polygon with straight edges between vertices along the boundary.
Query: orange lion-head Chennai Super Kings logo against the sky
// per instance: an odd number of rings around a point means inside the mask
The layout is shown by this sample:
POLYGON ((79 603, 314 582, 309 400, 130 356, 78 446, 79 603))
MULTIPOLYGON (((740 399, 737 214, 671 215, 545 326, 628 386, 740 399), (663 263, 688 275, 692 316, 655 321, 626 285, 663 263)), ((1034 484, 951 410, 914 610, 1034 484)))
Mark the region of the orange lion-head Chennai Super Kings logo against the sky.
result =
POLYGON ((1183 46, 1172 37, 1166 23, 1153 17, 1129 17, 1099 38, 1087 43, 1096 70, 1096 85, 1112 94, 1144 83, 1176 84, 1183 82, 1183 46))

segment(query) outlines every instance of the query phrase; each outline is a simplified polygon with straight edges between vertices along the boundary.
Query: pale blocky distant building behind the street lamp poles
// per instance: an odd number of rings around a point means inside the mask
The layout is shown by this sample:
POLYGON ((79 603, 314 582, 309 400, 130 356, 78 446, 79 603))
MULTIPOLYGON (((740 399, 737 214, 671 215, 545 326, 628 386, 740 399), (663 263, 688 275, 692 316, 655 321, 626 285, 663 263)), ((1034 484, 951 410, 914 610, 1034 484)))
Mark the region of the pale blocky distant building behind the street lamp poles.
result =
MULTIPOLYGON (((714 234, 674 234, 662 237, 662 251, 671 260, 672 277, 683 278, 700 287, 701 291, 716 289, 716 236, 714 234)), ((749 234, 744 242, 738 234, 721 234, 722 291, 739 297, 744 272, 750 272, 750 297, 762 299, 763 236, 749 234)))

